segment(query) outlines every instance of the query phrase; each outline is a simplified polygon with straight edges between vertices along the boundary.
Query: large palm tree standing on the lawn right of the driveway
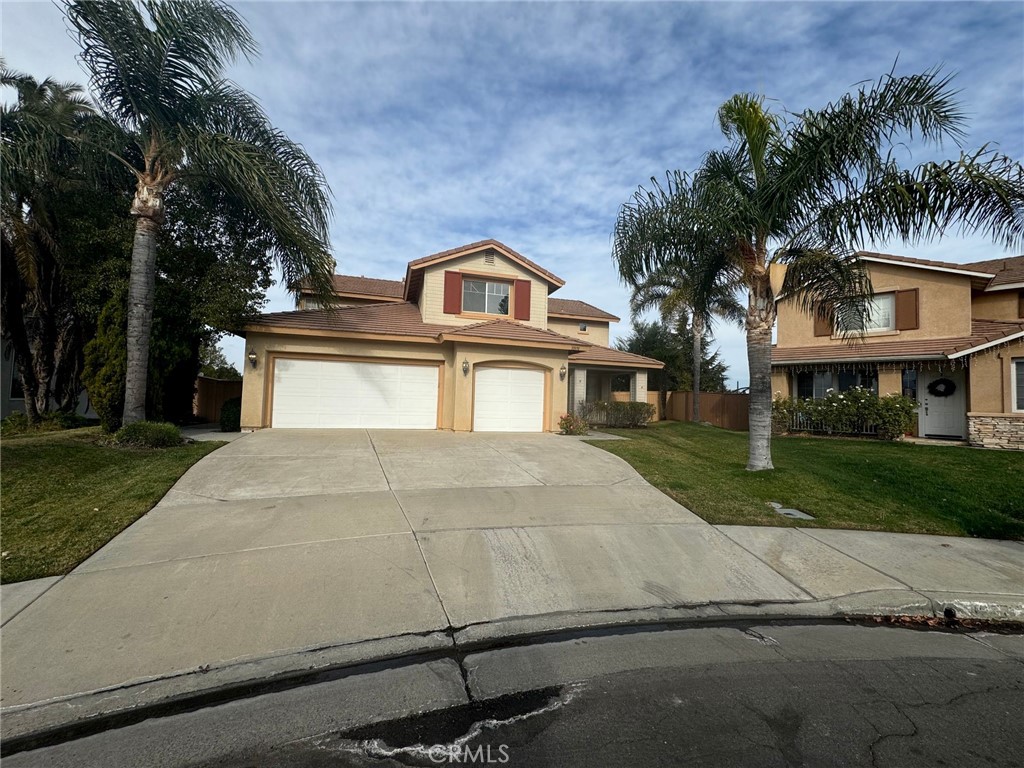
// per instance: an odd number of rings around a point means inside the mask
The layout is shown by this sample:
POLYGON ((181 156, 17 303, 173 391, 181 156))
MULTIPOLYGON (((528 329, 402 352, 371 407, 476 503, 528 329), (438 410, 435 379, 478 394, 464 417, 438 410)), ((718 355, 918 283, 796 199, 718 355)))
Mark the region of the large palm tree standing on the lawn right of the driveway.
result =
MULTIPOLYGON (((870 296, 855 248, 890 238, 912 244, 953 230, 1024 240, 1024 169, 988 147, 905 168, 899 142, 964 137, 965 117, 938 70, 865 84, 818 111, 783 118, 761 96, 719 109, 730 140, 693 177, 676 173, 676 237, 721 244, 749 293, 751 377, 746 468, 772 468, 771 332, 776 301, 861 325, 870 296), (773 287, 774 284, 774 287, 773 287)), ((664 257, 649 249, 642 268, 664 257)))

